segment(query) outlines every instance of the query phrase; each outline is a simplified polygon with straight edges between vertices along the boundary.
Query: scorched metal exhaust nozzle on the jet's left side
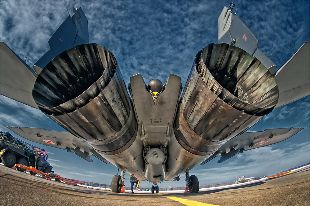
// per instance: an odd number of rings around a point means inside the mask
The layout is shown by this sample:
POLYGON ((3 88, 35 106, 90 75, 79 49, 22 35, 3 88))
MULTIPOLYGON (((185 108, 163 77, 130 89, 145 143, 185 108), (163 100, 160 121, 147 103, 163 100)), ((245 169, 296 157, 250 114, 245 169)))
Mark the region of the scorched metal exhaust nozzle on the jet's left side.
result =
POLYGON ((56 56, 38 75, 33 99, 98 152, 117 154, 135 139, 129 95, 116 59, 105 47, 82 44, 56 56))

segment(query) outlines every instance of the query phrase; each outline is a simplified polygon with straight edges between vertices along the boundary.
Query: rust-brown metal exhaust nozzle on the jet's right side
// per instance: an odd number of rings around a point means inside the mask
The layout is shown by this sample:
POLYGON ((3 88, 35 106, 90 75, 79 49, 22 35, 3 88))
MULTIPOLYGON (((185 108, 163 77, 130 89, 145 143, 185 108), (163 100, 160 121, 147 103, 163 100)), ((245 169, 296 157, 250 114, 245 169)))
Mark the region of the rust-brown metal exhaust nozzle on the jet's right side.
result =
POLYGON ((254 56, 229 44, 209 44, 196 55, 175 122, 187 151, 212 155, 277 104, 277 84, 254 56))

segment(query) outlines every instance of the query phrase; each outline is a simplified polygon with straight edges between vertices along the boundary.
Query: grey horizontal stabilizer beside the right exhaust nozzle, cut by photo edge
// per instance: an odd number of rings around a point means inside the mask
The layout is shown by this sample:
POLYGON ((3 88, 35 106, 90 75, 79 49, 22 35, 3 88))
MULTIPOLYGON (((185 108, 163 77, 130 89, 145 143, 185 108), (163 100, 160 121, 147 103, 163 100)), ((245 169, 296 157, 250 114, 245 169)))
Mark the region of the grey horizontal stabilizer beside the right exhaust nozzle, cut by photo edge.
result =
POLYGON ((275 108, 310 94, 310 43, 302 47, 274 74, 279 88, 275 108))

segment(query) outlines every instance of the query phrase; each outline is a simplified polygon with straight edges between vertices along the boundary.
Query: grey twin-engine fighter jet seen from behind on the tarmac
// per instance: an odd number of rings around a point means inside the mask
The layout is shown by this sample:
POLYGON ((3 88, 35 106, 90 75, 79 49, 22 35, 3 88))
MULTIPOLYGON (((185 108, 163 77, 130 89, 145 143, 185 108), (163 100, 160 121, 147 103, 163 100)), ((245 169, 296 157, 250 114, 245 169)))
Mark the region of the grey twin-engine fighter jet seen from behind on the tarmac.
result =
POLYGON ((197 53, 184 90, 174 74, 165 84, 146 84, 136 74, 126 87, 112 52, 89 43, 81 8, 73 8, 55 31, 34 70, 1 42, 0 93, 41 110, 68 132, 8 128, 87 161, 91 155, 114 164, 121 175, 112 179, 113 192, 121 191, 126 172, 152 182, 152 193, 161 181, 179 181, 185 173, 190 193, 197 193, 198 178, 189 174, 197 165, 217 156, 223 162, 303 129, 245 133, 273 109, 309 95, 310 49, 305 42, 274 72, 276 65, 257 49, 257 37, 233 15, 234 6, 223 8, 219 41, 197 53))

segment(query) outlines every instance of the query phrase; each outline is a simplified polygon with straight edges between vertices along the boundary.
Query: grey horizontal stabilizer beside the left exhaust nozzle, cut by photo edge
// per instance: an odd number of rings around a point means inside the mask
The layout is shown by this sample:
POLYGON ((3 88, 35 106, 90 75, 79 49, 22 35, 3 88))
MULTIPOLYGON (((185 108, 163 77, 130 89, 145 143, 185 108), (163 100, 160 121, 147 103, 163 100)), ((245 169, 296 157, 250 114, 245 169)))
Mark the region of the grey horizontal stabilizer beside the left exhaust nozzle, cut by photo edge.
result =
POLYGON ((0 42, 0 94, 37 108, 32 89, 37 74, 4 42, 0 42))

